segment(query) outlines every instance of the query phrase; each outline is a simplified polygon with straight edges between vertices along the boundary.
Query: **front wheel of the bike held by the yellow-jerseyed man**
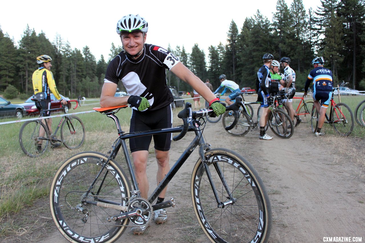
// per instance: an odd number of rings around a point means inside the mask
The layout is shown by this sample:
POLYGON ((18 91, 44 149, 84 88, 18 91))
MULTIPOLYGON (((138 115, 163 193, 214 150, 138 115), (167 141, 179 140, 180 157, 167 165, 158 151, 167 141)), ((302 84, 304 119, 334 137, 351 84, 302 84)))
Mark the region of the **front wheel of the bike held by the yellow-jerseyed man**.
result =
POLYGON ((61 139, 69 149, 79 148, 85 140, 85 127, 77 116, 65 117, 61 126, 61 139))

